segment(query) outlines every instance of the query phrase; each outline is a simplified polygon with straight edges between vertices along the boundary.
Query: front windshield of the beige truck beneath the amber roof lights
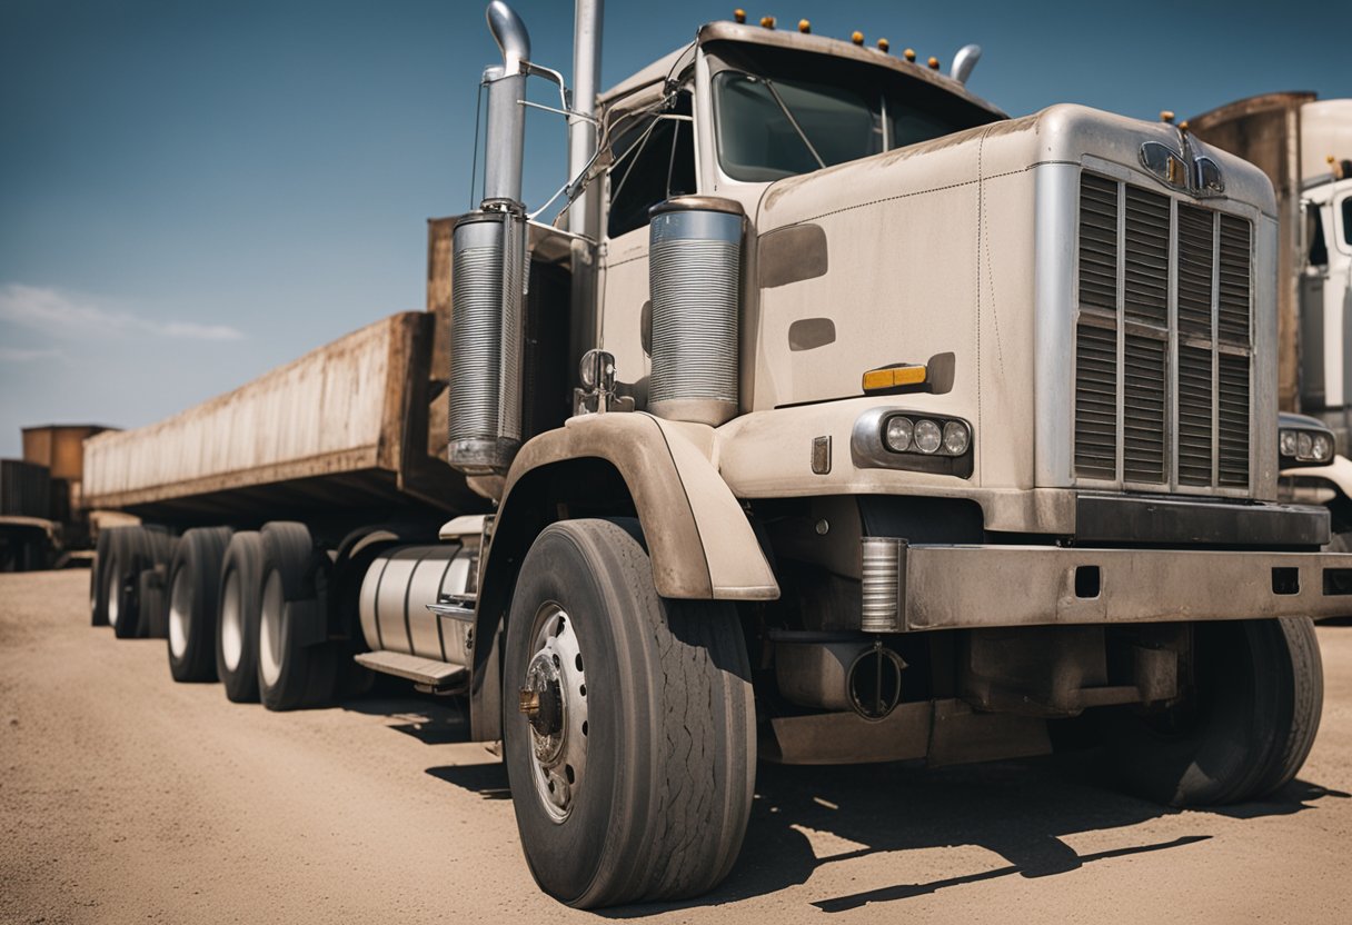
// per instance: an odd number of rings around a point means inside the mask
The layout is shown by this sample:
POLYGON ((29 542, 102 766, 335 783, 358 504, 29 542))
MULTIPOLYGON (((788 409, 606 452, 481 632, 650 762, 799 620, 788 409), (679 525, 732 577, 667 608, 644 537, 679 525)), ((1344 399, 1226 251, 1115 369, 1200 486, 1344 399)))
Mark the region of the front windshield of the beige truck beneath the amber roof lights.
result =
POLYGON ((746 64, 754 66, 729 68, 714 78, 718 160, 733 180, 764 183, 808 173, 996 118, 941 88, 876 66, 804 62, 802 55, 746 64), (821 78, 796 76, 803 72, 821 78))

